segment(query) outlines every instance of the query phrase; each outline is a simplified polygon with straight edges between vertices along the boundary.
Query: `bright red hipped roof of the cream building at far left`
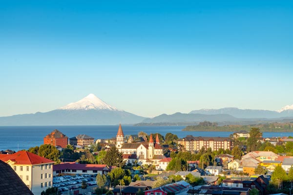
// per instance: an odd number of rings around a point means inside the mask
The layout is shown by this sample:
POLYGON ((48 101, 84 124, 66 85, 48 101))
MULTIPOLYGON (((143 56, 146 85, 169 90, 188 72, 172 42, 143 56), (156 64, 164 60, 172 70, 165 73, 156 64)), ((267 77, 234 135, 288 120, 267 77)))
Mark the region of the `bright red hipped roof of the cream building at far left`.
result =
POLYGON ((36 165, 36 164, 55 163, 52 160, 49 160, 42 156, 35 155, 27 151, 19 151, 12 155, 6 155, 4 157, 1 157, 0 160, 4 162, 11 160, 14 162, 14 164, 19 164, 19 165, 36 165))

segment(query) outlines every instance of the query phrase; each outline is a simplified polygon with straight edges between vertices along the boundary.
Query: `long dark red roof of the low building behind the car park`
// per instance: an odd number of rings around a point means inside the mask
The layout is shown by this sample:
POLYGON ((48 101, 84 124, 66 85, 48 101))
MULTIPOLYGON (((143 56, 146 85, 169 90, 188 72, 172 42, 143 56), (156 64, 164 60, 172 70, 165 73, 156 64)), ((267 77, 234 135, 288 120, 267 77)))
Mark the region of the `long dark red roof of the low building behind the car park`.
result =
POLYGON ((107 165, 102 164, 76 164, 67 162, 53 165, 53 171, 60 171, 64 169, 110 171, 110 168, 107 165))

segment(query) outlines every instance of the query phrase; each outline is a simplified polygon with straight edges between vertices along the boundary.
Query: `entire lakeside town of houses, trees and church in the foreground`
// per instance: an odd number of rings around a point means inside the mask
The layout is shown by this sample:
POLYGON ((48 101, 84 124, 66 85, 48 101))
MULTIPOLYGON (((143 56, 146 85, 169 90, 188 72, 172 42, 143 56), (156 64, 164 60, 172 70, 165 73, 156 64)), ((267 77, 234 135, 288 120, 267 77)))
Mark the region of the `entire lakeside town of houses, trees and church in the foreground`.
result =
POLYGON ((263 138, 257 128, 230 137, 178 138, 156 132, 125 135, 119 125, 117 136, 109 139, 68 138, 55 129, 41 146, 1 153, 3 183, 17 181, 13 188, 7 183, 7 194, 270 195, 292 190, 293 137, 263 138))

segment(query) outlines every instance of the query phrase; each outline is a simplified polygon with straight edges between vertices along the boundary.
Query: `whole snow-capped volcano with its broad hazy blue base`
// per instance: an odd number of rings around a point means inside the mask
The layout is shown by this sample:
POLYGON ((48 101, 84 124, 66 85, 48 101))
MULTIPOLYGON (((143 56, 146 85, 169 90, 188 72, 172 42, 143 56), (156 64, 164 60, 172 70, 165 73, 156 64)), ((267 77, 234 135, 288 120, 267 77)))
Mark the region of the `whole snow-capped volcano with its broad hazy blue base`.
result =
POLYGON ((0 117, 0 125, 116 125, 139 123, 144 119, 90 94, 50 112, 0 117))

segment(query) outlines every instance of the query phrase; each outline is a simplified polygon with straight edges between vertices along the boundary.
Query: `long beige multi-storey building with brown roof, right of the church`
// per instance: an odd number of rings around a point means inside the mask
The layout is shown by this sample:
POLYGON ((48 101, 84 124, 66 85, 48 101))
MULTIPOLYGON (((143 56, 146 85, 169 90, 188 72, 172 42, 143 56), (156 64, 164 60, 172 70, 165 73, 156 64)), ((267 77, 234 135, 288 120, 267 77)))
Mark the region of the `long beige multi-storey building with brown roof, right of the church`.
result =
POLYGON ((199 151, 202 147, 205 150, 211 148, 212 151, 217 151, 220 148, 224 150, 232 150, 233 142, 229 137, 193 137, 188 135, 178 140, 178 145, 184 147, 186 151, 199 151))

